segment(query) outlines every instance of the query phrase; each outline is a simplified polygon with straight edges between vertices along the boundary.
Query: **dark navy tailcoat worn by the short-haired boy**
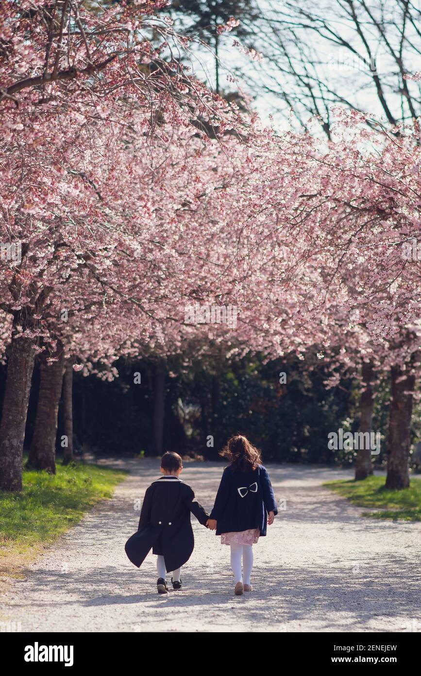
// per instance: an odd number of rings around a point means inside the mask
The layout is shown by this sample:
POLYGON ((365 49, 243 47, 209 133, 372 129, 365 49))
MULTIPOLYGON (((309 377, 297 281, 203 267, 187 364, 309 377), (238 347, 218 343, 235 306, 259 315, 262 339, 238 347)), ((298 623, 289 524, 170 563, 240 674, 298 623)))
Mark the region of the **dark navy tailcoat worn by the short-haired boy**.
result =
POLYGON ((184 565, 194 549, 190 512, 206 525, 209 515, 187 483, 178 477, 154 481, 146 489, 138 531, 125 543, 125 553, 132 563, 139 568, 154 548, 163 554, 167 572, 184 565))

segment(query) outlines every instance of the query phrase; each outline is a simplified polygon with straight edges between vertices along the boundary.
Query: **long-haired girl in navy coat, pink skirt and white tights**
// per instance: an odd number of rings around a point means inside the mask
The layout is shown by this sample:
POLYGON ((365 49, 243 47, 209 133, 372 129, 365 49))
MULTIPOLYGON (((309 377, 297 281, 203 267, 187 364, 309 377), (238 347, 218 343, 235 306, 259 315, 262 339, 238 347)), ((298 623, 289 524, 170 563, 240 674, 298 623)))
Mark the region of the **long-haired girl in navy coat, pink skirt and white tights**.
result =
POLYGON ((221 544, 231 546, 234 592, 240 596, 252 591, 252 545, 266 535, 266 524, 273 524, 278 510, 260 452, 246 437, 231 437, 221 456, 230 464, 223 471, 208 527, 221 535, 221 544))

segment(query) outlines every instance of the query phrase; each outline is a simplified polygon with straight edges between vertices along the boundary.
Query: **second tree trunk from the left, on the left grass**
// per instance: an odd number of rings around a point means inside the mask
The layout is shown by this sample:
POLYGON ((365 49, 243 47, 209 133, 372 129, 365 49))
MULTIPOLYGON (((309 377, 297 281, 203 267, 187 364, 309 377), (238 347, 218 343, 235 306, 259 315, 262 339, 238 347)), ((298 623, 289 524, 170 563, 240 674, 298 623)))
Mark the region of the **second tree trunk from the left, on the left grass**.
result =
POLYGON ((43 357, 40 367, 40 391, 34 436, 28 466, 55 474, 55 441, 57 414, 63 383, 63 346, 57 343, 54 361, 43 357))

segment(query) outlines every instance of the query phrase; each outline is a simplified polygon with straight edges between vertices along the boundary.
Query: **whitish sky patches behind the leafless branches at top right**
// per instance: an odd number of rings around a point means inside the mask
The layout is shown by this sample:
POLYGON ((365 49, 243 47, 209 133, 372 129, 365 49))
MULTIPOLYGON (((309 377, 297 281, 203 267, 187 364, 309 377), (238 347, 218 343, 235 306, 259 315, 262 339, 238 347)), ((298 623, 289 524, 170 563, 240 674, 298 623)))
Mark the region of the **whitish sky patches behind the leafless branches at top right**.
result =
MULTIPOLYGON (((274 11, 278 12, 277 19, 279 20, 281 30, 285 28, 291 19, 291 11, 287 7, 288 3, 283 0, 273 0, 271 3, 267 0, 256 0, 256 3, 266 14, 273 14, 274 11), (279 14, 279 12, 281 12, 281 14, 279 14)), ((358 2, 356 4, 358 5, 358 2)), ((320 16, 329 18, 331 26, 341 32, 341 35, 355 47, 358 54, 366 57, 364 45, 360 38, 358 38, 356 31, 352 28, 352 23, 346 20, 346 18, 341 18, 339 16, 341 5, 343 5, 343 7, 347 6, 347 4, 341 0, 300 0, 300 7, 308 7, 310 11, 317 10, 320 16)), ((421 0, 414 0, 412 5, 421 11, 421 0)), ((395 20, 396 24, 399 25, 401 18, 401 4, 399 3, 399 0, 372 0, 371 2, 368 0, 368 7, 374 12, 375 16, 380 16, 379 13, 381 12, 381 16, 389 31, 389 39, 395 41, 393 45, 395 46, 398 40, 398 34, 395 30, 395 20)), ((362 19, 364 19, 363 16, 362 19)), ((397 78, 394 76, 396 65, 389 53, 385 51, 384 42, 379 40, 376 28, 370 26, 366 20, 362 22, 362 27, 370 45, 370 49, 373 55, 375 55, 376 68, 381 80, 390 82, 393 84, 393 87, 397 86, 397 78)), ((418 28, 421 30, 421 21, 418 28)), ((315 56, 320 62, 318 72, 319 74, 322 74, 323 80, 325 80, 332 88, 336 90, 339 89, 343 97, 352 100, 362 110, 373 116, 382 116, 383 110, 376 97, 374 86, 372 84, 370 64, 366 63, 364 65, 357 56, 353 58, 349 51, 343 47, 339 47, 318 38, 316 33, 311 30, 306 30, 305 35, 308 37, 306 51, 311 49, 312 57, 315 56)), ((414 40, 414 44, 421 48, 421 39, 416 35, 415 29, 408 30, 408 35, 414 40)), ((275 81, 277 83, 276 86, 278 91, 283 91, 283 89, 286 88, 289 92, 293 89, 292 81, 280 72, 269 59, 265 58, 264 53, 263 62, 261 64, 254 63, 250 57, 242 54, 237 47, 232 46, 234 39, 237 38, 231 32, 226 32, 221 38, 219 50, 221 59, 219 78, 221 89, 232 91, 236 88, 235 84, 232 84, 227 80, 229 69, 235 70, 236 68, 241 68, 246 74, 246 78, 254 78, 256 82, 266 82, 270 84, 275 81)), ((272 37, 269 35, 263 36, 262 41, 265 39, 270 42, 272 37)), ((301 54, 304 55, 305 59, 306 55, 304 51, 301 54)), ((211 53, 202 50, 198 53, 198 57, 200 59, 200 64, 196 59, 194 70, 196 70, 198 76, 206 80, 211 87, 215 87, 215 63, 213 56, 211 53)), ((403 57, 404 64, 410 72, 421 71, 420 55, 408 49, 404 51, 403 57)), ((278 127, 282 128, 287 126, 287 120, 278 114, 280 97, 269 93, 264 95, 258 94, 255 96, 255 88, 252 86, 250 87, 250 84, 241 79, 238 82, 238 86, 240 89, 244 89, 244 91, 254 97, 252 106, 264 120, 268 120, 269 114, 273 114, 278 127)), ((418 88, 418 85, 411 84, 411 86, 418 88)), ((389 105, 393 107, 393 114, 399 117, 401 97, 394 97, 392 94, 388 94, 388 101, 389 105)), ((285 104, 283 105, 285 107, 285 104)))

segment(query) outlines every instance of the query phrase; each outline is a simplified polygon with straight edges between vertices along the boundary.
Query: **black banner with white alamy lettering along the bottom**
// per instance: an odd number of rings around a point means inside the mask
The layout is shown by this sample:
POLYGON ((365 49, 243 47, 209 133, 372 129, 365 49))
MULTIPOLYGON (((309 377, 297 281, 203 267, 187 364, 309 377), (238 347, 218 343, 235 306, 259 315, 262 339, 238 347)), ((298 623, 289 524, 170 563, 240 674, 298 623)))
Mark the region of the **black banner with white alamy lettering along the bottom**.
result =
MULTIPOLYGON (((201 667, 202 651, 198 654, 190 648, 202 644, 202 650, 213 652, 218 658, 220 644, 223 643, 223 660, 257 662, 267 659, 276 660, 279 669, 291 665, 295 668, 325 669, 328 665, 341 670, 343 667, 370 665, 373 668, 389 665, 409 667, 413 663, 414 651, 418 650, 418 633, 275 633, 265 632, 263 644, 252 657, 253 648, 250 636, 239 633, 235 628, 223 634, 218 644, 211 639, 213 631, 190 633, 180 632, 150 633, 139 636, 142 631, 131 633, 0 633, 0 647, 10 666, 32 671, 49 667, 53 669, 125 669, 133 660, 138 660, 138 669, 150 665, 151 660, 164 656, 175 658, 173 651, 180 651, 183 660, 190 655, 189 669, 201 667), (206 636, 207 635, 207 636, 206 636), (225 638, 226 636, 226 638, 225 638), (206 643, 202 643, 205 639, 206 643), (211 640, 209 640, 211 639, 211 640), (165 647, 163 644, 165 641, 165 647), (247 654, 250 652, 250 659, 247 654), (267 656, 264 654, 267 652, 267 656), (260 654, 260 658, 258 655, 260 654), (144 660, 146 660, 144 662, 144 660)), ((260 639, 261 640, 261 639, 260 639)), ((256 648, 258 644, 256 642, 256 648)), ((210 660, 213 660, 209 656, 210 660)), ((210 663, 210 662, 208 662, 210 663)))

